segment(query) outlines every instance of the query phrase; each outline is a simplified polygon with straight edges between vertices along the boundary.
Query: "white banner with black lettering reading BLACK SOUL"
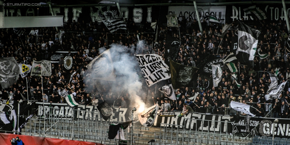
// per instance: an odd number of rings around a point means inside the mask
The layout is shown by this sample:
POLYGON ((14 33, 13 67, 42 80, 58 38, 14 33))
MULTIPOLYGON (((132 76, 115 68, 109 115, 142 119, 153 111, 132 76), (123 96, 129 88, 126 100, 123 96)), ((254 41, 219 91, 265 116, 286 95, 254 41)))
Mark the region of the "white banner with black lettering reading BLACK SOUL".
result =
MULTIPOLYGON (((193 6, 170 6, 168 7, 168 15, 176 14, 179 21, 184 16, 186 20, 189 18, 197 19, 195 8, 193 6)), ((220 20, 220 23, 225 23, 226 19, 226 6, 212 6, 212 7, 198 7, 198 14, 200 20, 209 19, 209 16, 215 16, 220 20)))

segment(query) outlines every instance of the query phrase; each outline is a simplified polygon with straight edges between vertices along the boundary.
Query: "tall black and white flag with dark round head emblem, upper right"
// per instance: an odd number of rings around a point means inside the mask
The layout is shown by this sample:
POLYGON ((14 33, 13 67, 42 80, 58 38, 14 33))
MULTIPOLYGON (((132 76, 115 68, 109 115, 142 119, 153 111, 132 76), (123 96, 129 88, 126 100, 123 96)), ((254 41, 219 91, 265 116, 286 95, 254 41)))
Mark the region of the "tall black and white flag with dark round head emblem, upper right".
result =
POLYGON ((257 50, 258 40, 260 31, 249 27, 248 25, 238 21, 238 49, 239 51, 250 54, 249 60, 254 60, 254 56, 257 50))

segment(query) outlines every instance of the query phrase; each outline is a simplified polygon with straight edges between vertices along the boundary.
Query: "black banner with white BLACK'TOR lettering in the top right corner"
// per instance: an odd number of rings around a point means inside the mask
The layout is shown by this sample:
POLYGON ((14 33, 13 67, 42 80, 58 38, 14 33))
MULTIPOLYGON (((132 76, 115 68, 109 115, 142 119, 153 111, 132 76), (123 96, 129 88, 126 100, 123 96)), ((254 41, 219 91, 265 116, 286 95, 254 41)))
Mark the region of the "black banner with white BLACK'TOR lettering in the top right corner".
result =
MULTIPOLYGON (((290 7, 286 5, 286 9, 289 15, 290 7)), ((245 21, 253 21, 253 20, 270 20, 270 21, 285 21, 285 14, 283 11, 282 4, 244 4, 244 5, 228 5, 226 6, 226 21, 231 23, 235 19, 245 21), (249 8, 256 7, 253 9, 254 11, 249 11, 249 8), (248 14, 247 14, 248 13, 248 14), (258 16, 257 16, 258 15, 258 16)), ((290 16, 289 16, 290 18, 290 16)))

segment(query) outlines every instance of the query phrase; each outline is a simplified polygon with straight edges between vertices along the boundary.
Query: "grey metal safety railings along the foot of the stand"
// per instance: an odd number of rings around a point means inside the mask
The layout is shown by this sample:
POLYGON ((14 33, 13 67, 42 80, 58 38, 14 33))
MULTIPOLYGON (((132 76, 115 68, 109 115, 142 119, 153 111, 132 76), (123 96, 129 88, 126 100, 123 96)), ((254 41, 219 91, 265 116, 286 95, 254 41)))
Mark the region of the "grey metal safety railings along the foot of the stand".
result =
MULTIPOLYGON (((74 117, 74 115, 55 115, 52 113, 54 109, 52 107, 45 109, 49 111, 44 116, 34 116, 29 119, 26 127, 22 129, 22 135, 87 141, 100 144, 118 144, 118 142, 119 144, 131 144, 131 127, 124 130, 124 138, 127 141, 121 142, 118 139, 109 140, 109 125, 121 122, 114 119, 104 121, 102 118, 96 117, 97 112, 95 111, 86 110, 92 116, 79 118, 74 117)), ((78 109, 71 110, 71 112, 76 116, 83 113, 78 109)), ((250 135, 235 131, 236 126, 232 125, 235 122, 231 120, 233 118, 230 116, 215 117, 215 115, 200 114, 201 119, 188 117, 192 115, 198 116, 197 114, 188 114, 187 116, 179 117, 179 119, 184 120, 181 124, 180 122, 179 124, 175 124, 175 122, 160 123, 159 127, 155 124, 155 127, 145 128, 139 122, 134 121, 132 144, 238 145, 242 142, 243 145, 246 145, 252 142, 253 137, 256 135, 253 131, 250 135), (211 119, 208 119, 208 116, 211 116, 211 119), (246 135, 248 136, 246 137, 246 135)), ((128 119, 126 120, 128 121, 128 119)))

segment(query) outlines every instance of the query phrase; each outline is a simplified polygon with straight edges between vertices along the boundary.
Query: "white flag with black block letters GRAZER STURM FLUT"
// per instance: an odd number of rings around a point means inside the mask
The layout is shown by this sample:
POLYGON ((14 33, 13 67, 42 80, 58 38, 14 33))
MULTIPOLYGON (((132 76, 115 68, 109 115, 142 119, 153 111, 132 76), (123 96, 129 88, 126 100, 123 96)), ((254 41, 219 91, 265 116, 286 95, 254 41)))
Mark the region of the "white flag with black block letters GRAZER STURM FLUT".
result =
POLYGON ((136 59, 148 86, 171 78, 171 75, 167 73, 169 67, 161 56, 157 54, 136 55, 136 59))

